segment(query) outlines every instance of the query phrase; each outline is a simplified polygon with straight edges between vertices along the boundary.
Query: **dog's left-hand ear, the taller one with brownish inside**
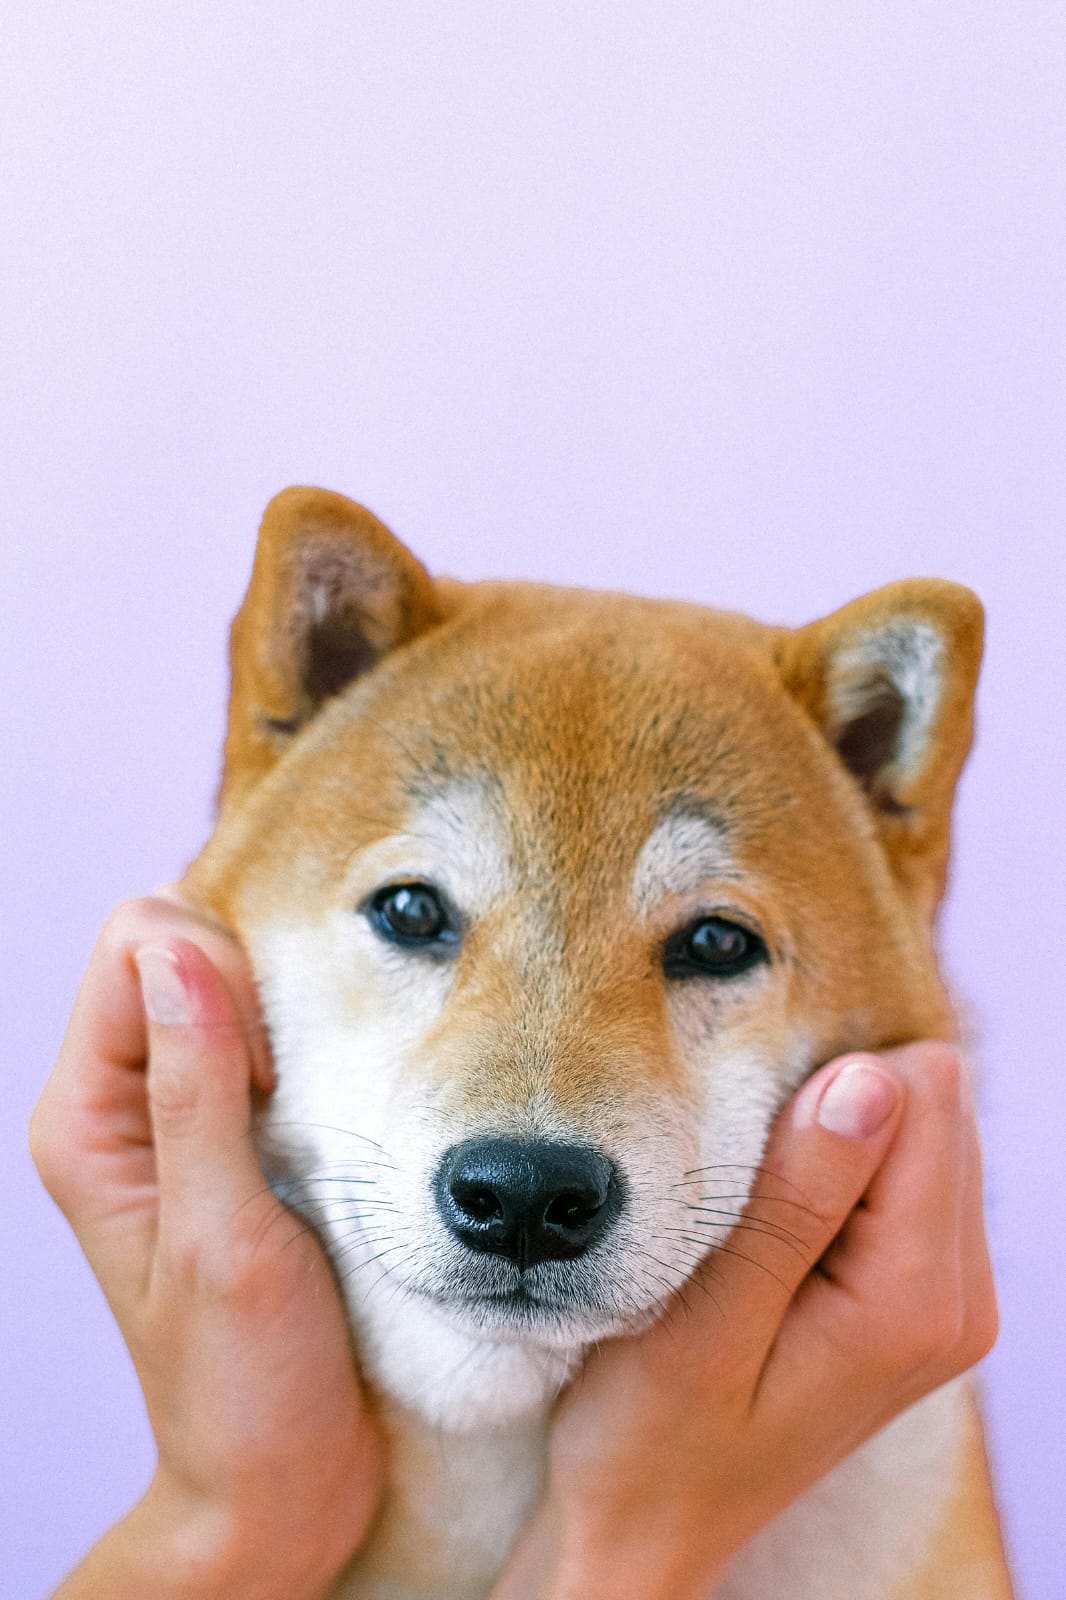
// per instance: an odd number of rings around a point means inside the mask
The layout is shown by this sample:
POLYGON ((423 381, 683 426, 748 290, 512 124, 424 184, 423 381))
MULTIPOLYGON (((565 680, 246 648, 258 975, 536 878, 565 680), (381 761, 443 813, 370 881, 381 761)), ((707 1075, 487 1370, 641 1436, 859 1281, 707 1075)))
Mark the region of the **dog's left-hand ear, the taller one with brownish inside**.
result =
POLYGON ((277 494, 230 632, 221 803, 258 782, 325 701, 434 621, 426 568, 371 512, 328 490, 277 494))

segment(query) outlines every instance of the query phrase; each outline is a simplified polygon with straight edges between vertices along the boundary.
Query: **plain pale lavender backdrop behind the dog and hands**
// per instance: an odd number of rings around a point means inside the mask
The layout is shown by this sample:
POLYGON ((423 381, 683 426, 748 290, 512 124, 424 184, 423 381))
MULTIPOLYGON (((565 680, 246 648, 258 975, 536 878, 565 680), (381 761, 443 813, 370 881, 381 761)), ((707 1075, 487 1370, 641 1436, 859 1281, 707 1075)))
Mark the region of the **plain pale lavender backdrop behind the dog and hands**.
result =
POLYGON ((0 1592, 144 1483, 24 1154, 107 907, 210 826, 288 482, 437 570, 800 622, 984 597, 944 920, 980 1040, 1026 1600, 1066 1592, 1056 3, 16 0, 0 51, 0 1592))

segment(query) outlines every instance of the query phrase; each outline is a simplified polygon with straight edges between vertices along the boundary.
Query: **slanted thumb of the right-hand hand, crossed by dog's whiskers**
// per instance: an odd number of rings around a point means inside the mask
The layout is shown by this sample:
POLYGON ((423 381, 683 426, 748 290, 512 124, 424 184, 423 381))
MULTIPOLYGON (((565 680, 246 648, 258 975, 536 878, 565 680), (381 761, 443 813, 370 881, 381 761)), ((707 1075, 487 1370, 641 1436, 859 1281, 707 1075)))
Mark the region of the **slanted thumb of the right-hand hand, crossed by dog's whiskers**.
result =
POLYGON ((882 1058, 845 1056, 816 1072, 778 1117, 744 1224, 698 1269, 723 1314, 743 1314, 751 1360, 762 1360, 791 1298, 868 1189, 903 1098, 882 1058))

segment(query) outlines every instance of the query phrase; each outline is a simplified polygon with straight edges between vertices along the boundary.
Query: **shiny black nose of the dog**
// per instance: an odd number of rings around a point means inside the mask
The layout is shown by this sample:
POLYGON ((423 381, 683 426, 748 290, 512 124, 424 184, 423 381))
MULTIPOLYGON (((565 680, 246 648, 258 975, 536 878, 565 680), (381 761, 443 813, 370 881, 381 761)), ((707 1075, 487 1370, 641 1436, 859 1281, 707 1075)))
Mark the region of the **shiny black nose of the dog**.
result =
POLYGON ((613 1162, 581 1144, 466 1139, 445 1154, 435 1190, 456 1238, 522 1269, 579 1256, 621 1210, 613 1162))

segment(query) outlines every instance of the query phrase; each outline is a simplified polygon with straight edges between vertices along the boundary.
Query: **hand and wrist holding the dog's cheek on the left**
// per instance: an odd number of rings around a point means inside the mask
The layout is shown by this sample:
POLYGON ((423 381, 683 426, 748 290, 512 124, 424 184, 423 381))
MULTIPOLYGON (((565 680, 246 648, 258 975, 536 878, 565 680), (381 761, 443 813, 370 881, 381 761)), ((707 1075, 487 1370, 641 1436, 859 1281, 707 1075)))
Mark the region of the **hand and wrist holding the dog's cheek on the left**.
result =
POLYGON ((30 1128, 144 1389, 158 1467, 59 1595, 301 1600, 360 1542, 381 1445, 314 1235, 266 1187, 251 973, 176 898, 93 950, 30 1128))

